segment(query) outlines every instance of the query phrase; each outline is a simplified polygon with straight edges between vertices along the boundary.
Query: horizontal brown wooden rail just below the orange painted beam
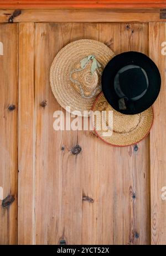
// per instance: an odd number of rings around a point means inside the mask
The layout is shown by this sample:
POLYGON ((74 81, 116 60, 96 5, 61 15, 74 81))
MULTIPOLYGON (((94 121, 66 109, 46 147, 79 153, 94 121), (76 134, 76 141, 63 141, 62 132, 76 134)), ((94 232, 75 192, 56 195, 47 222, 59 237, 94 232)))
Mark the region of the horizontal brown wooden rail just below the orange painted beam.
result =
MULTIPOLYGON (((1 9, 0 22, 8 22, 14 10, 1 9)), ((25 9, 14 22, 149 22, 162 21, 159 9, 25 9)))

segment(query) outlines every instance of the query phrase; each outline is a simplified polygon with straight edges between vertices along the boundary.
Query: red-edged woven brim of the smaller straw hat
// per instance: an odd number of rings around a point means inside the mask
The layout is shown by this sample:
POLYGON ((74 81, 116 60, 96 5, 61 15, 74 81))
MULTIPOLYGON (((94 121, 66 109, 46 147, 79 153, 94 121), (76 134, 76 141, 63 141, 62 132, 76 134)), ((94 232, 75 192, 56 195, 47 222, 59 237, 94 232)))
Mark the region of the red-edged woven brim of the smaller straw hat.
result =
MULTIPOLYGON (((107 100, 105 99, 105 96, 103 95, 103 92, 98 95, 96 98, 94 105, 92 106, 92 111, 102 111, 100 109, 100 106, 103 105, 103 102, 106 102, 106 104, 109 106, 109 109, 113 111, 113 132, 111 136, 103 136, 103 130, 97 130, 97 122, 98 122, 98 116, 96 115, 96 118, 94 119, 94 130, 97 134, 97 136, 106 142, 107 144, 110 144, 112 146, 129 146, 134 145, 143 140, 151 130, 152 124, 153 124, 153 107, 149 107, 149 109, 141 112, 140 114, 136 115, 124 115, 120 112, 117 112, 115 109, 113 109, 110 104, 108 104, 107 100), (116 132, 116 118, 118 118, 118 121, 120 122, 119 125, 128 126, 129 124, 132 125, 132 121, 137 119, 139 116, 139 122, 131 131, 126 132, 116 132), (125 120, 125 121, 124 121, 125 120)), ((104 109, 103 109, 104 110, 104 109)))

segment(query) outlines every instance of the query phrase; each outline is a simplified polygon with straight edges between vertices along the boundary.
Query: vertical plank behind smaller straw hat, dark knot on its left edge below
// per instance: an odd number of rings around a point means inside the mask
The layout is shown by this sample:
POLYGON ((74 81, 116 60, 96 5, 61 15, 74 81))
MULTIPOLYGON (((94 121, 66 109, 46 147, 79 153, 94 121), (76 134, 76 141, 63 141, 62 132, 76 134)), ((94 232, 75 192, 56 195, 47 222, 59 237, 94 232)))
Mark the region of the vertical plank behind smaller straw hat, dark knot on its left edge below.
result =
MULTIPOLYGON (((112 43, 113 38, 108 38, 106 35, 112 29, 118 28, 118 25, 107 26, 102 24, 86 24, 84 27, 85 38, 100 40, 101 42, 112 43), (101 31, 101 34, 100 34, 101 31), (108 42, 110 41, 110 42, 108 42)), ((118 37, 118 35, 117 35, 118 37)), ((109 172, 109 162, 111 157, 111 147, 102 144, 99 139, 90 131, 79 133, 79 141, 82 146, 82 173, 83 173, 83 188, 82 195, 91 198, 82 201, 82 244, 113 244, 113 239, 110 233, 113 230, 113 222, 110 216, 113 211, 113 190, 108 189, 111 183, 112 173, 109 172), (107 154, 105 150, 107 148, 107 154), (105 161, 103 163, 102 161, 105 161), (104 181, 104 182, 103 182, 104 181), (107 195, 105 191, 107 190, 107 195), (110 204, 107 203, 110 198, 110 204), (107 211, 105 215, 105 210, 107 211), (105 227, 107 225, 107 228, 105 227)), ((112 173, 113 175, 113 173, 112 173)))

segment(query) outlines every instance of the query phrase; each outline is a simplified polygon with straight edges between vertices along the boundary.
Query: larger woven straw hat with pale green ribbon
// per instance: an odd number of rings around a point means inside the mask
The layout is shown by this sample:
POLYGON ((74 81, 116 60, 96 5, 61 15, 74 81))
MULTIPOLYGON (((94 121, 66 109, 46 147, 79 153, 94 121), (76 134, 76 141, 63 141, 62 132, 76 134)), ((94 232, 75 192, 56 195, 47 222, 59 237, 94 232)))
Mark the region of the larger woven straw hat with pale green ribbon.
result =
POLYGON ((86 115, 83 111, 91 110, 101 92, 103 68, 113 57, 110 48, 95 40, 77 40, 62 48, 50 68, 50 84, 59 104, 86 115))

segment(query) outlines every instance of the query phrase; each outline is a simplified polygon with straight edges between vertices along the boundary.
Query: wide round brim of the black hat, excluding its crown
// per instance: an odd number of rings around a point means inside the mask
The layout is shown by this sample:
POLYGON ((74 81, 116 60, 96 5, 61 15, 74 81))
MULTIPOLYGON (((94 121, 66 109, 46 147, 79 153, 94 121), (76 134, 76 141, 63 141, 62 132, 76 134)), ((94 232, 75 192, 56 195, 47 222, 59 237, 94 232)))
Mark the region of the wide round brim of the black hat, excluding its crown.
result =
POLYGON ((158 67, 147 55, 141 52, 123 52, 112 58, 106 65, 102 73, 102 91, 108 103, 113 109, 126 115, 134 115, 143 112, 151 107, 157 99, 161 86, 161 78, 158 67), (147 92, 141 99, 133 101, 134 108, 120 110, 118 100, 120 99, 116 94, 114 88, 114 80, 117 72, 127 65, 137 65, 142 67, 148 76, 149 86, 147 92))

